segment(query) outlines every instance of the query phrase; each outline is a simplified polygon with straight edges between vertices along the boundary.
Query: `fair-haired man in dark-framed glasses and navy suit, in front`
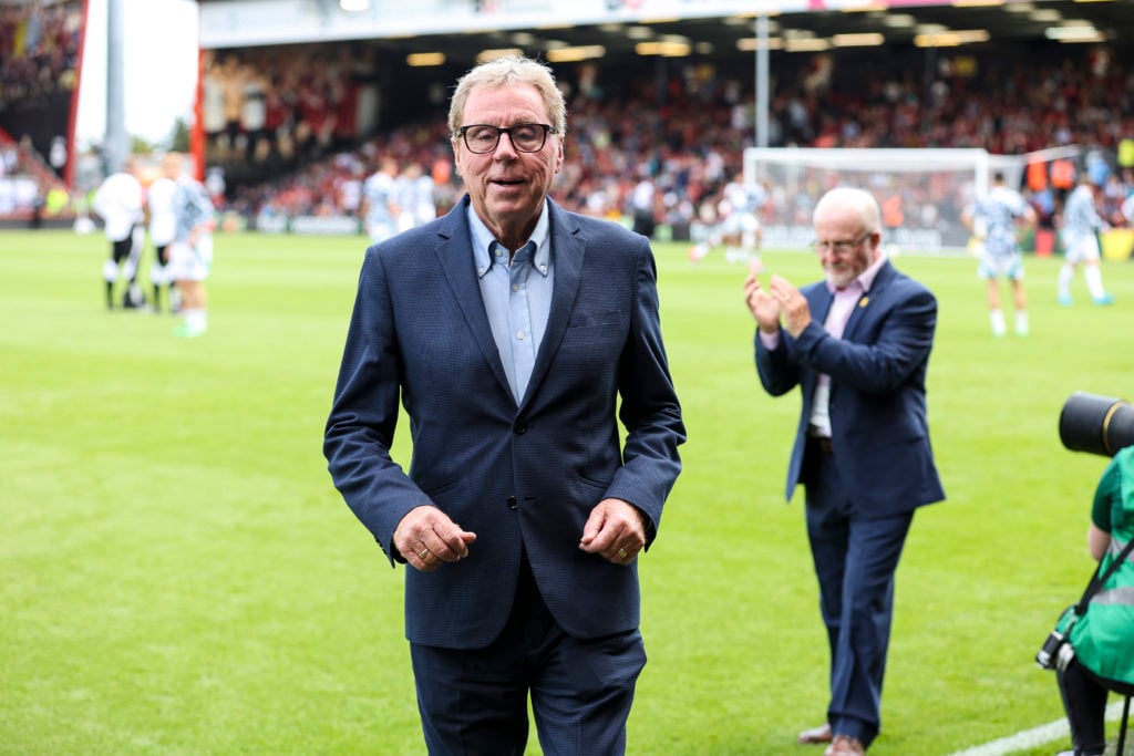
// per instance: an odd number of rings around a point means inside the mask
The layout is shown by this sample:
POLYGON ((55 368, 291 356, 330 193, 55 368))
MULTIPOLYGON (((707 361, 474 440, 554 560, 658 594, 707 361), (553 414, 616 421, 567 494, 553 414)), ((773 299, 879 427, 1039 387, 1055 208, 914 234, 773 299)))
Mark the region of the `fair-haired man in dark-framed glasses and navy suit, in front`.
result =
POLYGON ((468 194, 366 250, 324 453, 408 564, 429 753, 523 754, 530 695, 544 754, 621 754, 645 664, 638 555, 685 440, 653 255, 548 197, 567 124, 545 66, 474 68, 449 127, 468 194))

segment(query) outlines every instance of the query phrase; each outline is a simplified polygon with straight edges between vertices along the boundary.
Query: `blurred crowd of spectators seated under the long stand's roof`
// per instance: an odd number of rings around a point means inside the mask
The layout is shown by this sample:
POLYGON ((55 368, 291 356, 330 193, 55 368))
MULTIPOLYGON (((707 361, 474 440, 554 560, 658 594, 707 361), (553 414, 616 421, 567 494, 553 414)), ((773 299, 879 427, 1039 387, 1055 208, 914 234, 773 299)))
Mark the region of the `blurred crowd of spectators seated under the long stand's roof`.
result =
MULTIPOLYGON (((773 68, 769 146, 983 147, 1021 154, 1078 145, 1106 184, 1106 216, 1125 224, 1117 211, 1134 193, 1134 68, 1108 50, 1067 46, 1049 49, 1047 62, 1039 63, 1035 56, 1024 59, 1010 51, 942 58, 928 84, 923 68, 829 53, 797 70, 773 68)), ((693 66, 671 67, 663 84, 653 76, 606 80, 591 66, 576 74, 561 79, 569 90, 572 134, 557 201, 593 215, 629 215, 635 189, 646 182, 657 222, 677 227, 711 216, 723 187, 743 167, 744 148, 754 142, 751 82, 693 66)), ((302 116, 286 117, 289 128, 307 135, 302 144, 308 152, 293 152, 295 170, 280 178, 230 181, 223 202, 249 220, 353 216, 366 177, 382 159, 393 158, 403 167, 432 171, 443 212, 462 186, 442 120, 432 117, 347 145, 331 138, 325 121, 321 131, 302 126, 302 116), (320 133, 327 136, 313 136, 320 133)), ((238 126, 234 135, 240 138, 238 126)), ((266 137, 261 142, 261 154, 269 154, 266 137)), ((1073 179, 1051 178, 1022 187, 1041 227, 1052 224, 1061 194, 1073 186, 1073 179)), ((771 198, 790 202, 776 193, 771 198)))

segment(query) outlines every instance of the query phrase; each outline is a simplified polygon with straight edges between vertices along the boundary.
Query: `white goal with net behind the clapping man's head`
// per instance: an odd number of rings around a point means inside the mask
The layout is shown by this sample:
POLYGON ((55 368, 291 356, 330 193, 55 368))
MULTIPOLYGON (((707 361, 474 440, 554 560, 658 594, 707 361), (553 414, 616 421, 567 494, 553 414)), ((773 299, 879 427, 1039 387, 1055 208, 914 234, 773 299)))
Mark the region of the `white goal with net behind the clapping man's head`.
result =
POLYGON ((1029 155, 984 150, 836 150, 748 147, 744 178, 765 187, 764 249, 804 249, 814 237, 811 211, 828 189, 870 190, 882 210, 882 244, 900 253, 964 254, 970 232, 960 213, 1002 171, 1018 187, 1029 155))

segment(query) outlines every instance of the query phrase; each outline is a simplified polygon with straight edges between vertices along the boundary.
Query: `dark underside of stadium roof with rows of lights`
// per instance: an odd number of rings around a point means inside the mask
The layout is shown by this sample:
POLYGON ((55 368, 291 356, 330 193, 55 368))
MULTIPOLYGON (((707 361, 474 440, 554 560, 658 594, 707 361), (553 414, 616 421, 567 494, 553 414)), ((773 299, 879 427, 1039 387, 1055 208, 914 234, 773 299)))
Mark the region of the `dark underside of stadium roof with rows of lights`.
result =
MULTIPOLYGON (((1075 41, 1134 46, 1134 0, 1076 1, 954 0, 951 5, 905 5, 917 0, 875 2, 865 10, 810 10, 769 17, 772 50, 816 52, 832 48, 917 45, 954 48, 958 44, 1075 41)), ((223 0, 198 0, 221 5, 223 0)), ((832 5, 828 2, 828 5, 832 5)), ((450 63, 467 63, 484 50, 519 49, 556 61, 572 60, 568 49, 601 46, 608 59, 634 54, 669 57, 711 56, 718 59, 751 56, 752 17, 642 19, 624 23, 513 28, 471 33, 415 34, 381 39, 393 53, 441 52, 450 63)), ((282 41, 282 40, 281 40, 282 41)), ((208 45, 208 40, 205 40, 208 45)), ((227 46, 227 45, 220 45, 227 46)))

